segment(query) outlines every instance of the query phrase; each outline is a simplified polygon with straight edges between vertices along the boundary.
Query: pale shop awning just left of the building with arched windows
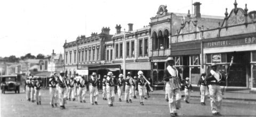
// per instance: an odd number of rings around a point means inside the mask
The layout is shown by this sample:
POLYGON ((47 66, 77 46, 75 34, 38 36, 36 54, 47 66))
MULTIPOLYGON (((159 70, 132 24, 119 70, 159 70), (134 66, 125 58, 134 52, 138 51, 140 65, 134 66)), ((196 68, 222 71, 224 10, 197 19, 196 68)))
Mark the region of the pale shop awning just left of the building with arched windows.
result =
MULTIPOLYGON (((123 69, 123 64, 121 64, 123 69)), ((125 68, 127 70, 151 70, 151 62, 132 62, 126 63, 125 68)))

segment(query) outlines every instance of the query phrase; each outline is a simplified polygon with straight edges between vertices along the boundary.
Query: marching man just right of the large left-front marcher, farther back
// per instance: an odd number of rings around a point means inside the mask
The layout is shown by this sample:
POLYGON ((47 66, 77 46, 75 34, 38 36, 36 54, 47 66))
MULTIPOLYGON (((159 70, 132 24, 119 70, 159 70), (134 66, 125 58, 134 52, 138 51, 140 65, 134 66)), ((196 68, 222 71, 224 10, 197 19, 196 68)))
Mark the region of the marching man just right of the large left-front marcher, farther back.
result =
POLYGON ((75 86, 76 84, 76 80, 74 80, 74 77, 71 77, 69 80, 68 80, 68 100, 71 101, 71 98, 73 101, 76 100, 75 98, 75 86))

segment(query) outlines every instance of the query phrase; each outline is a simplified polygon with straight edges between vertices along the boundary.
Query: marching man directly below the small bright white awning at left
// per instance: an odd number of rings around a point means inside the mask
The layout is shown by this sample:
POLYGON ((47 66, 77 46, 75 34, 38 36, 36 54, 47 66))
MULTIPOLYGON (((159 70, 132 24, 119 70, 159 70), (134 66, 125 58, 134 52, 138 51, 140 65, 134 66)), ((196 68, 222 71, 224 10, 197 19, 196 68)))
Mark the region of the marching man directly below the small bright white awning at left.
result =
POLYGON ((76 74, 76 78, 75 79, 80 79, 77 83, 77 85, 79 85, 79 89, 78 89, 78 101, 80 101, 81 103, 85 103, 85 94, 86 94, 86 91, 87 91, 87 88, 86 88, 86 80, 85 80, 85 77, 81 77, 81 76, 78 76, 78 74, 76 74))

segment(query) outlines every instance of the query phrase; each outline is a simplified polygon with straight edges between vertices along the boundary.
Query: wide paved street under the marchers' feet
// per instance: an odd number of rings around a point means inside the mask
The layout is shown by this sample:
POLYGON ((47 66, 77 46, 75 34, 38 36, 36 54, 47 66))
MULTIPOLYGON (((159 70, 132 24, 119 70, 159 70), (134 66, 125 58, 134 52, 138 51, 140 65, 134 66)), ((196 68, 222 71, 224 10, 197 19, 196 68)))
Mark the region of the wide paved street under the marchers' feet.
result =
MULTIPOLYGON (((87 93, 87 92, 86 92, 87 93)), ((141 106, 139 99, 133 100, 133 103, 115 102, 113 107, 107 105, 107 101, 99 96, 99 105, 91 105, 89 95, 86 94, 86 103, 77 101, 69 102, 66 110, 60 110, 59 107, 52 108, 49 104, 49 91, 43 90, 42 105, 36 105, 26 101, 25 93, 15 94, 6 92, 1 94, 1 116, 170 116, 168 103, 165 102, 163 95, 151 95, 145 100, 145 105, 141 106)), ((116 97, 117 99, 117 97, 116 97)), ((116 100, 117 101, 117 100, 116 100)), ((206 106, 202 106, 199 100, 193 98, 190 104, 183 100, 182 108, 178 114, 180 116, 212 116, 210 111, 210 101, 206 106)), ((225 116, 256 116, 255 104, 241 103, 222 103, 222 114, 225 116)))

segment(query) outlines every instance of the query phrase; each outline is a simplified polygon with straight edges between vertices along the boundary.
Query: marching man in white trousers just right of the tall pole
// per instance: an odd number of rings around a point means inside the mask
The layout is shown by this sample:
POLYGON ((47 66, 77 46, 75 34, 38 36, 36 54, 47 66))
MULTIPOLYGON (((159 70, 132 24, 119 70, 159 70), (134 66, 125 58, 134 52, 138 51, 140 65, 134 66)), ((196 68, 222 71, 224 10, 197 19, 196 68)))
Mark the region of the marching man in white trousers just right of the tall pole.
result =
POLYGON ((126 103, 132 103, 132 84, 133 84, 133 78, 131 77, 131 73, 127 73, 127 77, 125 79, 125 92, 124 92, 124 100, 126 100, 126 103), (129 95, 128 95, 129 94, 129 95), (129 96, 129 101, 128 101, 129 96))

